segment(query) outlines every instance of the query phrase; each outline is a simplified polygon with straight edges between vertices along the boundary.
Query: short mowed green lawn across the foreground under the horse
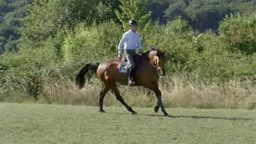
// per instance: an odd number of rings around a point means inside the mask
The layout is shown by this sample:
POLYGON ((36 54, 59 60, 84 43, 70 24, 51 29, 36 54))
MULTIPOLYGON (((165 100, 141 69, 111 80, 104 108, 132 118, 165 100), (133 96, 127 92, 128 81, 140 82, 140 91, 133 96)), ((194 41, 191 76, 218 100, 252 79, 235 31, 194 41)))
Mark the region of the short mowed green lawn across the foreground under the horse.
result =
POLYGON ((0 103, 0 143, 256 143, 256 110, 105 109, 0 103))

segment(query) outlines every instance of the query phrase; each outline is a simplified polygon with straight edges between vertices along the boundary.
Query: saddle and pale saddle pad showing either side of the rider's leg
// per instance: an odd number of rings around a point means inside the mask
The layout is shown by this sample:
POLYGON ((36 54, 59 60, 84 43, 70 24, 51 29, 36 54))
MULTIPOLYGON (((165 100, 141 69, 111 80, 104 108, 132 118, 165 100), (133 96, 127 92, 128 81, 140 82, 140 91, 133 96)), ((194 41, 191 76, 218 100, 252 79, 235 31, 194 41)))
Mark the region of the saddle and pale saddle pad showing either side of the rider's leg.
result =
MULTIPOLYGON (((133 61, 135 62, 135 72, 138 71, 140 67, 139 57, 139 55, 133 56, 133 61)), ((131 68, 131 65, 128 64, 126 57, 123 57, 120 65, 118 65, 119 72, 127 73, 129 68, 131 68)))

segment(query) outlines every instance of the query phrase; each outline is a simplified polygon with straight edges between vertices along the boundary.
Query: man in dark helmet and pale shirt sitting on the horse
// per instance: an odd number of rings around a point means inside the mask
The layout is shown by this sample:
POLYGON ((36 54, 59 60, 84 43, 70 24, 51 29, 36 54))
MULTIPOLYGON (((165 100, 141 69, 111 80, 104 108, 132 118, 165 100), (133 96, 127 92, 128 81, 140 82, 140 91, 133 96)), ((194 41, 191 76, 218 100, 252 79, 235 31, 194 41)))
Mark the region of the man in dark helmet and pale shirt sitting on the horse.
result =
POLYGON ((124 56, 127 58, 128 63, 131 65, 128 71, 128 84, 133 85, 135 74, 135 61, 133 56, 136 55, 136 47, 139 49, 139 54, 142 54, 142 45, 139 40, 139 33, 137 31, 137 23, 135 20, 129 21, 130 30, 125 32, 118 46, 118 58, 121 59, 122 49, 124 46, 124 56))

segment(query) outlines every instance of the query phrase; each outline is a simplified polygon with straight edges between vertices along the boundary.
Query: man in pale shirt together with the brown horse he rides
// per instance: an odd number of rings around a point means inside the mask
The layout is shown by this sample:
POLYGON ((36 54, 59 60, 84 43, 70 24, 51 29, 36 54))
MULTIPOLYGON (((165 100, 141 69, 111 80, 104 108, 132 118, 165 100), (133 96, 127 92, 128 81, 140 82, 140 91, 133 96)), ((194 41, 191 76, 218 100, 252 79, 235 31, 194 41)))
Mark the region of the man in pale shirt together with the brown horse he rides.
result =
POLYGON ((158 109, 161 108, 161 112, 164 113, 165 116, 168 116, 168 113, 165 111, 165 107, 163 102, 161 101, 161 90, 159 90, 158 80, 159 73, 161 76, 165 76, 165 53, 160 50, 151 49, 145 54, 142 54, 142 46, 139 40, 139 33, 136 31, 136 22, 135 20, 131 20, 129 22, 130 31, 124 33, 123 38, 118 46, 118 59, 117 58, 109 58, 106 61, 102 62, 91 62, 84 65, 80 72, 76 76, 76 83, 80 88, 84 86, 85 83, 85 74, 89 71, 95 72, 98 79, 101 79, 102 83, 104 83, 102 87, 102 91, 99 94, 99 102, 98 102, 98 111, 101 113, 105 113, 103 109, 103 100, 106 96, 106 93, 109 90, 113 90, 117 100, 121 102, 126 109, 132 114, 136 112, 132 109, 130 105, 124 102, 118 88, 117 83, 121 84, 135 84, 134 77, 136 79, 135 86, 143 86, 150 90, 154 90, 154 94, 156 95, 158 102, 154 107, 154 112, 158 113, 158 109), (128 63, 130 63, 131 68, 128 72, 122 73, 119 71, 119 65, 121 65, 121 54, 124 46, 124 55, 128 59, 128 63), (135 72, 135 61, 133 57, 136 55, 135 49, 139 48, 139 70, 135 72), (136 75, 134 75, 136 73, 136 75), (128 82, 127 82, 128 79, 128 82))

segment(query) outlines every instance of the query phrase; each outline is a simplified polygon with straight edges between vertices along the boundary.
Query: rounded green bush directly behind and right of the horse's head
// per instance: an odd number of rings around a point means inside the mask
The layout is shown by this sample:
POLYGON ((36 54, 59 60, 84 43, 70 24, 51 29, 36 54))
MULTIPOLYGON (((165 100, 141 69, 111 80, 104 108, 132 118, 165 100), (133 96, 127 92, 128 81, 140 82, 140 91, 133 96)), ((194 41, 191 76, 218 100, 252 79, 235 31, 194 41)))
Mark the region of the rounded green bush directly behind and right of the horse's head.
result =
POLYGON ((187 62, 198 53, 193 35, 197 34, 194 34, 187 21, 178 17, 164 26, 153 24, 144 40, 144 47, 152 45, 165 50, 166 69, 169 72, 189 72, 191 65, 187 65, 187 62))

